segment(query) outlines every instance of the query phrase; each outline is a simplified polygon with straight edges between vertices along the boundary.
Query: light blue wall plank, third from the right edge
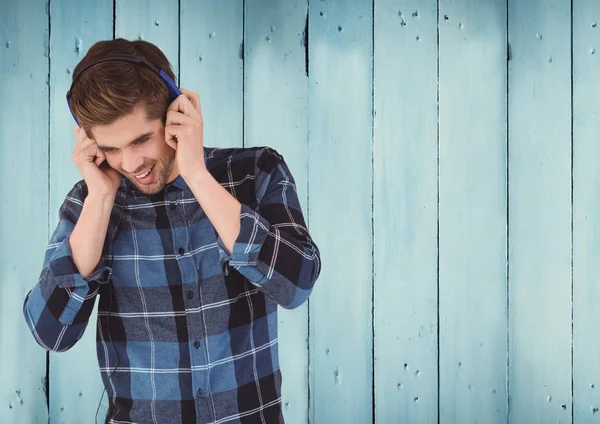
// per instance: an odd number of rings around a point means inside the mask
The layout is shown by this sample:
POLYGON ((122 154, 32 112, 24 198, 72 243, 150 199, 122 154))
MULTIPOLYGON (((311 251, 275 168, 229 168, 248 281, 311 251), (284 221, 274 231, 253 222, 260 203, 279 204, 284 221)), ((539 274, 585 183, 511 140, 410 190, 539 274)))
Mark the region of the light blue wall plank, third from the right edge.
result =
POLYGON ((440 2, 440 422, 505 423, 506 2, 440 2))

